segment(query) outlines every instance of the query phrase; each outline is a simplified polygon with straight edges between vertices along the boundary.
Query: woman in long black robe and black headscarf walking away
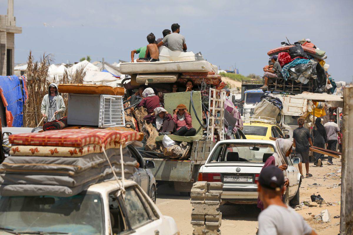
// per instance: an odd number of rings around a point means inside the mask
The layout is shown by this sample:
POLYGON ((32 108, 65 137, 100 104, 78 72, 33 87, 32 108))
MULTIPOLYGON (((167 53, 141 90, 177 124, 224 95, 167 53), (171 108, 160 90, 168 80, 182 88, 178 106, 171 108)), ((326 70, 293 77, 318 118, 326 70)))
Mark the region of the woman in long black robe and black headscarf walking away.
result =
MULTIPOLYGON (((319 147, 319 148, 325 148, 325 146, 327 146, 327 134, 326 134, 324 125, 321 124, 321 118, 319 117, 316 118, 315 120, 313 134, 314 134, 313 146, 319 147)), ((322 159, 324 158, 324 155, 322 153, 314 152, 314 157, 315 157, 314 164, 316 166, 322 167, 322 159)))

